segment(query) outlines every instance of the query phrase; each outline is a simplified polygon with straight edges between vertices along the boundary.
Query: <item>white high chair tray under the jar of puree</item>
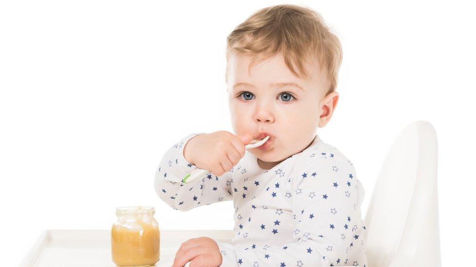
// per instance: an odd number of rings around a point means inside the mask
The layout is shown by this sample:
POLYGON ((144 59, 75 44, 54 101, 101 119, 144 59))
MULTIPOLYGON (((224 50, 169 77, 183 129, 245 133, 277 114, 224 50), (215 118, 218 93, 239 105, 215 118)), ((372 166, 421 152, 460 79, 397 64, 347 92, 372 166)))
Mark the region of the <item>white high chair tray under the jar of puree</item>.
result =
MULTIPOLYGON (((199 236, 231 243, 234 232, 231 230, 160 230, 160 260, 155 266, 172 266, 180 245, 190 238, 199 236)), ((111 231, 43 231, 20 266, 116 267, 111 258, 111 231)))

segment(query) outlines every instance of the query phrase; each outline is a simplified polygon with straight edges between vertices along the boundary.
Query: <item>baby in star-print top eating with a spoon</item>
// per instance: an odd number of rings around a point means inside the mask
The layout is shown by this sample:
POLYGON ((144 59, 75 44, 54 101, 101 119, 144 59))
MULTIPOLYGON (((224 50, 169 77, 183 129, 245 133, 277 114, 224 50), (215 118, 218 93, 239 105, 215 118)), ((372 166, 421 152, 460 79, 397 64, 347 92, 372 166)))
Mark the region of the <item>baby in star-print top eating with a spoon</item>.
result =
POLYGON ((175 143, 159 164, 155 190, 180 211, 232 200, 236 235, 232 244, 184 242, 174 267, 365 267, 364 190, 352 162, 317 135, 339 97, 338 38, 316 11, 276 5, 234 29, 226 57, 235 134, 192 133, 175 143), (183 183, 196 168, 210 173, 183 183))

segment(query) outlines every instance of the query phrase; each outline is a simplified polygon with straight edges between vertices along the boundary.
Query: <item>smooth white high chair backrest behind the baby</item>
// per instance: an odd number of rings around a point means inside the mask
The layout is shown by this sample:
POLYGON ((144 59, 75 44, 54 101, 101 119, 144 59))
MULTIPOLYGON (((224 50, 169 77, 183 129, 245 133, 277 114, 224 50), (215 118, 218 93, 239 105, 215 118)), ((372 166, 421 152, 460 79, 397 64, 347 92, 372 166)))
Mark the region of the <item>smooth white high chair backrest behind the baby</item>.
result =
POLYGON ((365 216, 369 267, 440 267, 436 132, 427 121, 394 141, 365 216))

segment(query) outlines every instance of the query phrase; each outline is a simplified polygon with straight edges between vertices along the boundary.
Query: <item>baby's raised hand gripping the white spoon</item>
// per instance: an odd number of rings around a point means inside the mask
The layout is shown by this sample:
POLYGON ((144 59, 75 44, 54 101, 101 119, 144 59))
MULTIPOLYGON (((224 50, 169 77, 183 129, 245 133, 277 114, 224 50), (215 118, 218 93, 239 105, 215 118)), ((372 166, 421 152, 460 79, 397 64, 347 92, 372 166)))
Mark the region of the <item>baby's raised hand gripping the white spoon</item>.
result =
POLYGON ((245 145, 252 138, 251 134, 235 136, 227 131, 199 134, 185 144, 183 157, 198 168, 221 176, 243 158, 245 145))

